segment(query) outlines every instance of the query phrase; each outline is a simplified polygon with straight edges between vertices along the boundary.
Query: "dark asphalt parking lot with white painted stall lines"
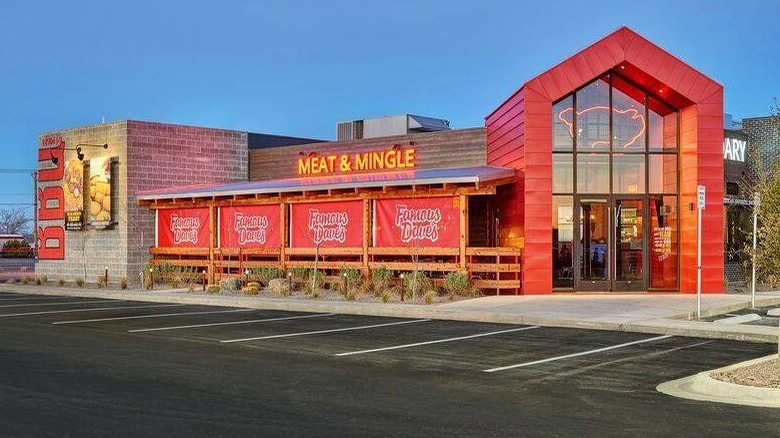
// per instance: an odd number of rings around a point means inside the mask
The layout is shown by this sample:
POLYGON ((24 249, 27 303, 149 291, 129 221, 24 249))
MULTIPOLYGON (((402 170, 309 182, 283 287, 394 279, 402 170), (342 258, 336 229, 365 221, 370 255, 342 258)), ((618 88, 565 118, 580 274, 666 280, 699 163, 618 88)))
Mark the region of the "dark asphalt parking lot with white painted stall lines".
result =
POLYGON ((655 391, 770 344, 12 293, 0 294, 0 333, 8 436, 735 436, 780 426, 773 410, 655 391))

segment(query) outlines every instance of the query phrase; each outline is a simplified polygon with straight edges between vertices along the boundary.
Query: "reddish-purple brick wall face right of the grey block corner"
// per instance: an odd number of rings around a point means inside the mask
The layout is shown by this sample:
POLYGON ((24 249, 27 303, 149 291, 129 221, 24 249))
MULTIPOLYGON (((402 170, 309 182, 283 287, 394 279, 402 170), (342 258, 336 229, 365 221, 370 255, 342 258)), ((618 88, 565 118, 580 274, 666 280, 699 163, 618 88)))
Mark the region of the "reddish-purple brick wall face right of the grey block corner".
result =
POLYGON ((152 122, 127 122, 128 277, 149 260, 154 213, 137 205, 139 191, 164 187, 246 181, 247 133, 152 122))

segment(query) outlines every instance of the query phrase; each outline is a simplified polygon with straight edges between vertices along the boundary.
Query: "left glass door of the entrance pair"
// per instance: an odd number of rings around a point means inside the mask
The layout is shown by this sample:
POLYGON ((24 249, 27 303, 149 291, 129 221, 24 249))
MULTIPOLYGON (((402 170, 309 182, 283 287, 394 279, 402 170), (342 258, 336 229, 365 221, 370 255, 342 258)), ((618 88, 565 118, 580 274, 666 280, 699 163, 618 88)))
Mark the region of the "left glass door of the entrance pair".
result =
POLYGON ((611 218, 609 198, 577 200, 577 258, 579 269, 575 289, 609 291, 611 218))

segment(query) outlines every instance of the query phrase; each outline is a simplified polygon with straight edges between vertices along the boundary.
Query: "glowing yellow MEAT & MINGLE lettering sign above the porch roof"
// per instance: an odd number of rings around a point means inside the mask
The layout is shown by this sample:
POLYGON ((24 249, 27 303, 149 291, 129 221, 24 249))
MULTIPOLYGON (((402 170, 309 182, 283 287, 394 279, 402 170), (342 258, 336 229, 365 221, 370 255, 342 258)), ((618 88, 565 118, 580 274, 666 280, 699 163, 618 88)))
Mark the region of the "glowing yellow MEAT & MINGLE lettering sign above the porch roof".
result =
POLYGON ((333 175, 354 172, 410 169, 417 166, 414 148, 298 158, 298 175, 333 175))

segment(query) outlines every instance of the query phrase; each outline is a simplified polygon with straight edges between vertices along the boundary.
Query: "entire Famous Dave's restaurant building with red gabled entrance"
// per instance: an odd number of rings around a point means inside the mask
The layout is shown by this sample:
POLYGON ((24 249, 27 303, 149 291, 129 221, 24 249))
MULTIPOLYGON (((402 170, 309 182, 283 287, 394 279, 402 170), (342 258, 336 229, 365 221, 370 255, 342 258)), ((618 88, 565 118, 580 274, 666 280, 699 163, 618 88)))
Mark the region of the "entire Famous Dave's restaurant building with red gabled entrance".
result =
MULTIPOLYGON (((724 165, 723 88, 628 28, 527 81, 485 128, 402 115, 339 123, 335 142, 262 147, 247 133, 171 125, 161 125, 164 141, 148 139, 122 123, 113 140, 101 139, 103 125, 41 139, 42 164, 58 144, 108 142, 129 186, 118 188, 114 228, 62 231, 77 244, 64 240, 62 260, 42 262, 50 278, 78 275, 85 260, 96 263, 91 278, 112 257, 130 275, 151 254, 211 281, 317 260, 330 274, 460 271, 500 293, 692 293, 701 184, 702 290, 724 291, 724 189, 741 170, 724 165), (125 143, 133 153, 123 158, 125 143), (171 159, 144 157, 141 144, 171 159), (137 251, 133 227, 147 236, 137 251)), ((103 211, 93 200, 85 213, 100 226, 103 211)), ((42 223, 63 228, 62 217, 42 223)))

